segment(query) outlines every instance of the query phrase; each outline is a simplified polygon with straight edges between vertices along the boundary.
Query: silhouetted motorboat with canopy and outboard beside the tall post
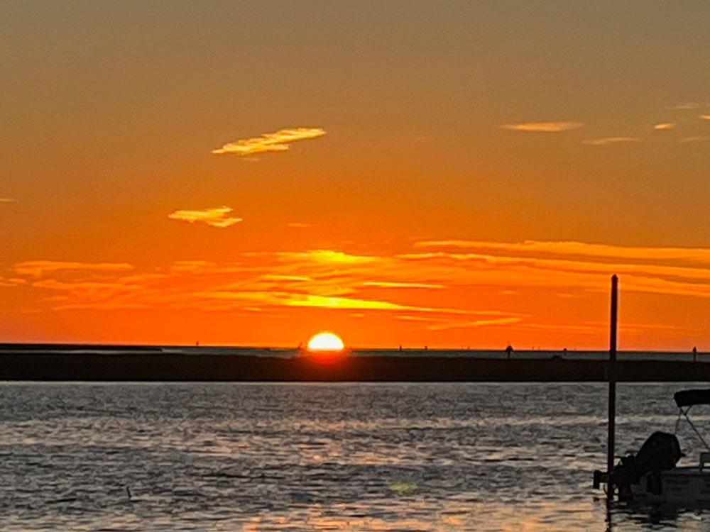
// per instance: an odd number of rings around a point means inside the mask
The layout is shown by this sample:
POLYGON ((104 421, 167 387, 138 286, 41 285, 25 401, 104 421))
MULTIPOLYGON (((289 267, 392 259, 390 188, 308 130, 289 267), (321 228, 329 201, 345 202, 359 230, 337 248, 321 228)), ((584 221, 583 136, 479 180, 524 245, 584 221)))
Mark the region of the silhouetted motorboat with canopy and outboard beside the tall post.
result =
POLYGON ((678 406, 674 433, 655 432, 643 443, 638 453, 621 457, 611 472, 594 471, 594 488, 601 484, 608 496, 620 501, 640 501, 672 506, 710 505, 710 447, 688 416, 693 406, 710 405, 710 389, 687 389, 673 396, 678 406), (685 419, 706 451, 700 453, 697 465, 678 466, 684 456, 676 436, 685 419))

